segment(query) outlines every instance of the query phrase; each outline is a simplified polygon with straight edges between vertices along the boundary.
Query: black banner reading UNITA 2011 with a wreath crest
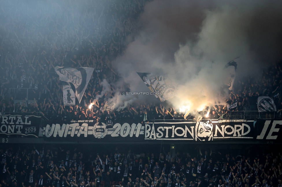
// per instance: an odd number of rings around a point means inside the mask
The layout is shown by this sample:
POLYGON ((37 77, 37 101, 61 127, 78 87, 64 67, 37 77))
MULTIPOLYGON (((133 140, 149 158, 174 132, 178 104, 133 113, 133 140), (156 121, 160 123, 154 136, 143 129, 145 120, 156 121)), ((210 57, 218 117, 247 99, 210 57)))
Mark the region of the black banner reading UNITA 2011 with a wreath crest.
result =
POLYGON ((141 123, 96 123, 95 120, 45 121, 43 135, 46 140, 70 140, 92 138, 95 141, 144 140, 144 125, 141 123))

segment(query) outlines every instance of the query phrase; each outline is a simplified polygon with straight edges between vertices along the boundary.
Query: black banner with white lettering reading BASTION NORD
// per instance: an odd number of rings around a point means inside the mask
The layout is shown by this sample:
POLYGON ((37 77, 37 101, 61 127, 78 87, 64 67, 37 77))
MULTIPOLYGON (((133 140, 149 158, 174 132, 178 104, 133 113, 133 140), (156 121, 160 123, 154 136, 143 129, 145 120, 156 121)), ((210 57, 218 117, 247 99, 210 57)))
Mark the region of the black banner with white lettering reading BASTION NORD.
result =
POLYGON ((153 122, 145 124, 145 140, 246 140, 253 139, 254 121, 203 120, 198 122, 153 122))

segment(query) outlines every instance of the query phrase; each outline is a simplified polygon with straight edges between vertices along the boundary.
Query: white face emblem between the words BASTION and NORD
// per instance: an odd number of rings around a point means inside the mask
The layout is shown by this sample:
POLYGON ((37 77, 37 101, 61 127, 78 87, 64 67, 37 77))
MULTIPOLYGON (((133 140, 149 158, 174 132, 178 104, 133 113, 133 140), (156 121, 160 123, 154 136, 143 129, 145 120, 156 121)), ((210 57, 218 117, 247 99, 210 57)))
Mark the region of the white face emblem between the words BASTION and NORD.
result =
POLYGON ((213 128, 212 121, 207 121, 205 123, 198 121, 195 126, 195 130, 196 130, 195 140, 196 141, 213 140, 212 128, 213 128))

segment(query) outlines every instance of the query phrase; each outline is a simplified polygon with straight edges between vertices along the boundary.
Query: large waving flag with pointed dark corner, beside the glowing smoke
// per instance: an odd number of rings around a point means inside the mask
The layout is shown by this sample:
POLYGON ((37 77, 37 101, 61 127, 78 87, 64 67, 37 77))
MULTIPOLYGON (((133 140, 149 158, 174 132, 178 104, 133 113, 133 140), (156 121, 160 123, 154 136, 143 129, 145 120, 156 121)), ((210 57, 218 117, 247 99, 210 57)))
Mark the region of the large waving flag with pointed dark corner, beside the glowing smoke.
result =
POLYGON ((177 95, 177 85, 162 75, 153 75, 150 73, 138 73, 151 92, 157 92, 156 98, 161 102, 173 98, 177 95))

